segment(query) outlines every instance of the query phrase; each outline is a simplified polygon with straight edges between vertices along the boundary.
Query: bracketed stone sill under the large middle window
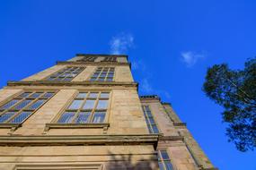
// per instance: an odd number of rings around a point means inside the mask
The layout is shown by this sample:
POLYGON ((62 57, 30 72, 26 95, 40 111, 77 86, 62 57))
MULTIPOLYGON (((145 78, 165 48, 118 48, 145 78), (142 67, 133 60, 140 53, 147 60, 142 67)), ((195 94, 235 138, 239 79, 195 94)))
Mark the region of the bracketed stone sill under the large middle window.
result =
POLYGON ((108 127, 110 127, 110 123, 46 123, 45 131, 47 132, 49 129, 108 129, 108 127))

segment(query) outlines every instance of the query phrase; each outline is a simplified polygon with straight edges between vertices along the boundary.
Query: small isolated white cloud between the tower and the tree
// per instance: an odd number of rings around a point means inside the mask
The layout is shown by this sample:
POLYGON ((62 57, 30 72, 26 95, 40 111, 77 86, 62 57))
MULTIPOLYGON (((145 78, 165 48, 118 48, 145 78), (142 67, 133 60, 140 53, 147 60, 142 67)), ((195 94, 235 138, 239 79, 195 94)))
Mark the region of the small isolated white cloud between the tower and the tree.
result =
POLYGON ((205 53, 195 53, 192 51, 185 51, 181 53, 181 59, 188 67, 192 67, 197 64, 200 59, 205 57, 205 53))

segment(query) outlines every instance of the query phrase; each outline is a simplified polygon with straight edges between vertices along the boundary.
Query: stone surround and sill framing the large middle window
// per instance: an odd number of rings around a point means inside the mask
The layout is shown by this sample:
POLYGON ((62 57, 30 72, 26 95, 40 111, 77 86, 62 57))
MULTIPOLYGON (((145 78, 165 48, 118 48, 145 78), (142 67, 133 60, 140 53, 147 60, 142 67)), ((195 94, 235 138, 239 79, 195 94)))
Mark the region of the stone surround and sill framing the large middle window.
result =
POLYGON ((57 113, 57 115, 53 118, 53 120, 50 123, 46 123, 46 127, 44 130, 44 133, 48 132, 50 129, 75 129, 75 128, 102 128, 103 133, 107 133, 108 128, 110 127, 110 109, 111 109, 111 100, 112 100, 112 91, 109 90, 79 90, 75 92, 75 94, 72 96, 72 98, 69 98, 69 100, 66 102, 66 105, 62 107, 62 109, 57 113), (105 115, 105 119, 103 123, 57 123, 57 120, 60 118, 62 114, 65 113, 66 108, 72 104, 72 102, 75 100, 76 96, 79 93, 83 92, 109 92, 109 103, 105 115))

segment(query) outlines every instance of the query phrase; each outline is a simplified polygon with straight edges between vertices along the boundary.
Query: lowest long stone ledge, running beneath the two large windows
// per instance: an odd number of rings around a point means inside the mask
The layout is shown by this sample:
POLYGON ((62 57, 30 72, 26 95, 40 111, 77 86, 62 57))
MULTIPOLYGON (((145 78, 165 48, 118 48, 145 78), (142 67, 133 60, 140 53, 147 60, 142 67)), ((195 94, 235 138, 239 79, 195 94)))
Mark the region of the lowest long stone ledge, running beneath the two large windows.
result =
POLYGON ((0 136, 0 146, 150 144, 156 147, 157 141, 158 134, 0 136))

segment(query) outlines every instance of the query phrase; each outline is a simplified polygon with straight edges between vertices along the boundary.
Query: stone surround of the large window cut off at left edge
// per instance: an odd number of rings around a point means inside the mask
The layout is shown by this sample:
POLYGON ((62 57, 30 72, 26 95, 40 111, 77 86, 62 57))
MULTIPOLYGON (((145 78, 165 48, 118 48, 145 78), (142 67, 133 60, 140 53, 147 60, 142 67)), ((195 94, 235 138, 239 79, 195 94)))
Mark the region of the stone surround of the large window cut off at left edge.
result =
MULTIPOLYGON (((5 98, 2 102, 0 102, 0 106, 4 106, 4 104, 8 103, 9 101, 13 100, 13 98, 18 98, 20 95, 22 95, 22 93, 24 92, 53 92, 54 94, 50 97, 50 98, 46 98, 46 101, 41 105, 41 106, 44 106, 47 102, 49 102, 49 100, 51 98, 53 98, 56 94, 57 94, 57 89, 31 89, 31 90, 28 90, 28 89, 23 89, 22 91, 16 93, 16 94, 13 94, 11 97, 9 98, 5 98)), ((35 101, 37 100, 38 98, 35 99, 35 101)), ((33 103, 35 103, 35 101, 33 101, 30 105, 32 105, 33 103)), ((17 105, 17 104, 15 104, 17 105)), ((31 115, 34 115, 34 113, 36 113, 40 107, 39 106, 37 109, 33 110, 31 112, 31 115)), ((21 112, 21 110, 19 111, 21 112)), ((31 115, 29 115, 27 118, 25 118, 22 123, 24 123, 26 120, 28 120, 31 115)), ((11 128, 11 133, 14 132, 17 128, 19 127, 22 127, 22 123, 0 123, 0 128, 11 128)))

